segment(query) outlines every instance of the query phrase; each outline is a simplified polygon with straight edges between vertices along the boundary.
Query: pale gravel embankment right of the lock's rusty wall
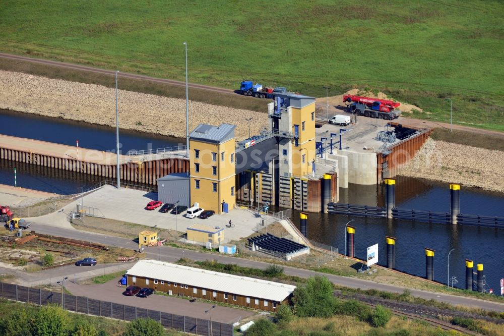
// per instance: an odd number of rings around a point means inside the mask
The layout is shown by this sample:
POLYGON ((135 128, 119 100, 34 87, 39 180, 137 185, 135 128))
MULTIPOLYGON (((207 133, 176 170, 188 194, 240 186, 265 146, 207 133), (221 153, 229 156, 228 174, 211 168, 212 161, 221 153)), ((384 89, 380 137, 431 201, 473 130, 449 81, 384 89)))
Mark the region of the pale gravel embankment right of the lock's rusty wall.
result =
POLYGON ((504 152, 428 139, 400 175, 504 192, 504 152))

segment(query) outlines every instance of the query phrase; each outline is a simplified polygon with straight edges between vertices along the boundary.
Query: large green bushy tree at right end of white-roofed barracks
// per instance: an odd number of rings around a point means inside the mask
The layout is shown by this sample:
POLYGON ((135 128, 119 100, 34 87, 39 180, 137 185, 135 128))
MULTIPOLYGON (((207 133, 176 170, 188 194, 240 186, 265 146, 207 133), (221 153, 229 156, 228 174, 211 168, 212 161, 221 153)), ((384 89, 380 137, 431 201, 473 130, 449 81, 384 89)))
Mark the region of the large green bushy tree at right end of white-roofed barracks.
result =
POLYGON ((332 316, 336 306, 333 284, 325 276, 309 277, 304 287, 294 290, 294 312, 299 317, 332 316))

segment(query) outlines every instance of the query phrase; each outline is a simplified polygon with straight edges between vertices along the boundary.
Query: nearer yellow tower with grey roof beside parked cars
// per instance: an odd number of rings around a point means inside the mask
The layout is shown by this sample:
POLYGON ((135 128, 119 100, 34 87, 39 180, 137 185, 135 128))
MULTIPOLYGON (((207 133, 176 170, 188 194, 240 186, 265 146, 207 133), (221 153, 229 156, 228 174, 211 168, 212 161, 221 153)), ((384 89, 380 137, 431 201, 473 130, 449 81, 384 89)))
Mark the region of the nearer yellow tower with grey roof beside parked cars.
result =
POLYGON ((230 124, 200 124, 189 135, 191 204, 199 203, 215 213, 234 208, 235 128, 230 124))

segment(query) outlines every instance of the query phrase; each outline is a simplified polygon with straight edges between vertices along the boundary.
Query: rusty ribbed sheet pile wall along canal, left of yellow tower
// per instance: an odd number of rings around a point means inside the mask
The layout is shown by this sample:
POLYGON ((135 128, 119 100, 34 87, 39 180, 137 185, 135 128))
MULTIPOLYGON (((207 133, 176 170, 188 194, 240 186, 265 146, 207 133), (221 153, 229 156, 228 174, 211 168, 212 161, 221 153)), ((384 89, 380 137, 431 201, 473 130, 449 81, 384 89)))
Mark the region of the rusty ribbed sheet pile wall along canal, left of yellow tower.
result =
MULTIPOLYGON (((99 151, 96 151, 99 155, 99 151)), ((29 163, 62 171, 77 172, 115 179, 114 164, 99 164, 67 157, 55 157, 17 149, 1 148, 0 159, 29 163)), ((128 162, 120 165, 121 180, 156 185, 157 179, 171 173, 189 171, 189 160, 165 158, 143 162, 128 162)))

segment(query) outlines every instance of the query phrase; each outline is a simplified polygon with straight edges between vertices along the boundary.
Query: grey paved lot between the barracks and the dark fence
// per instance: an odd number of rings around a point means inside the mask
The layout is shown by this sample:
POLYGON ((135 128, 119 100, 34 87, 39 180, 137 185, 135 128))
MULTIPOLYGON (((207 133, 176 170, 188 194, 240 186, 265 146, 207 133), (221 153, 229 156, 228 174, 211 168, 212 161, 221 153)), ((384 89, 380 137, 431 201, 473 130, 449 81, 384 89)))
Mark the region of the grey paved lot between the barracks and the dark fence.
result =
MULTIPOLYGON (((150 295, 147 298, 136 296, 125 296, 122 293, 126 286, 118 287, 117 279, 113 279, 101 285, 76 285, 68 283, 66 289, 76 296, 86 296, 91 299, 111 301, 119 304, 136 306, 153 310, 160 310, 166 313, 192 316, 201 319, 208 319, 206 310, 210 309, 213 303, 190 302, 189 300, 163 295, 150 295)), ((253 311, 231 308, 217 305, 212 309, 212 321, 234 323, 245 317, 256 314, 253 311)))

